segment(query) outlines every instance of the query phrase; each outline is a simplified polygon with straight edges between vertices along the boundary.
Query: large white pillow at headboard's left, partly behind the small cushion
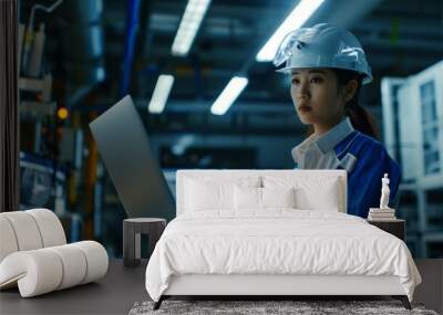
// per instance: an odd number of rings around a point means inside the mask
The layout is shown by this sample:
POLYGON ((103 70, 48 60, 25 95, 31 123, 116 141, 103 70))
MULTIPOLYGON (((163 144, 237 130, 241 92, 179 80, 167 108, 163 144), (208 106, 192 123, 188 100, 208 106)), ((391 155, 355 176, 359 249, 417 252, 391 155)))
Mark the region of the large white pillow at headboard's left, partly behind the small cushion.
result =
POLYGON ((260 177, 240 177, 231 180, 210 177, 187 178, 185 181, 185 211, 234 210, 234 186, 260 187, 260 177))

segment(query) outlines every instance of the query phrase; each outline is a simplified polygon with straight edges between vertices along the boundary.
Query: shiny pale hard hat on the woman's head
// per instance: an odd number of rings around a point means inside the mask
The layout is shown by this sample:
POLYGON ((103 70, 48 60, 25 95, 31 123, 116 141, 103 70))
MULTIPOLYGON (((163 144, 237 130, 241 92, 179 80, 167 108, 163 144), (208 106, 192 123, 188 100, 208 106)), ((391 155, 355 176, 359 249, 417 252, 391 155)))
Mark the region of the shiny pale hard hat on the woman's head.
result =
POLYGON ((282 40, 274 65, 277 72, 290 73, 301 67, 336 67, 363 75, 363 84, 372 81, 371 67, 358 39, 349 31, 328 23, 297 29, 282 40))

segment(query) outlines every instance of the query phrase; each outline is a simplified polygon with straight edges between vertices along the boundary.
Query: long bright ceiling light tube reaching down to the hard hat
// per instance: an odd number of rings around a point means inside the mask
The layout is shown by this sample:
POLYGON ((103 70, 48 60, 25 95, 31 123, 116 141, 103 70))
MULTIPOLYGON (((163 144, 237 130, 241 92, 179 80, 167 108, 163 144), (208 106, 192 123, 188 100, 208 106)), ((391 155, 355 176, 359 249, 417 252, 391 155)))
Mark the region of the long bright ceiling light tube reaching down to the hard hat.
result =
POLYGON ((257 53, 256 61, 271 61, 285 35, 290 31, 299 29, 312 15, 312 13, 316 12, 323 1, 324 0, 301 0, 277 29, 274 35, 257 53))

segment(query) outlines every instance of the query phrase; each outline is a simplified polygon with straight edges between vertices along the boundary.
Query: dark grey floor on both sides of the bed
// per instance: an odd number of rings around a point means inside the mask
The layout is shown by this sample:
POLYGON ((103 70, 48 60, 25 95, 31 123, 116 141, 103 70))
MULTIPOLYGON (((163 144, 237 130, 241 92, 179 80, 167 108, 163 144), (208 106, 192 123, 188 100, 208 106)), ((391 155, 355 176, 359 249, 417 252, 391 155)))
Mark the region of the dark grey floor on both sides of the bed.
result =
MULTIPOLYGON (((106 276, 97 283, 32 298, 21 298, 17 288, 3 291, 0 314, 127 314, 135 302, 150 300, 144 285, 146 263, 128 269, 123 266, 122 260, 111 260, 106 276)), ((423 283, 416 287, 414 301, 443 314, 443 259, 416 260, 415 263, 423 283)))

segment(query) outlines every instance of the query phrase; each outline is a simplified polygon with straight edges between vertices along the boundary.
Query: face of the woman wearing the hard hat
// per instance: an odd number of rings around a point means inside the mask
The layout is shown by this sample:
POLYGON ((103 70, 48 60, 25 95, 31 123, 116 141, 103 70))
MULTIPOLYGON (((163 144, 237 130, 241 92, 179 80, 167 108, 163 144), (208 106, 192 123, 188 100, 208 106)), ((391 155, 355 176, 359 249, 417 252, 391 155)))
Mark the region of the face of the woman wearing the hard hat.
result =
POLYGON ((330 69, 297 69, 291 72, 291 97, 303 124, 334 125, 344 115, 337 75, 330 69))

